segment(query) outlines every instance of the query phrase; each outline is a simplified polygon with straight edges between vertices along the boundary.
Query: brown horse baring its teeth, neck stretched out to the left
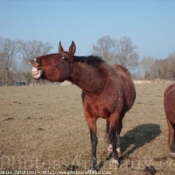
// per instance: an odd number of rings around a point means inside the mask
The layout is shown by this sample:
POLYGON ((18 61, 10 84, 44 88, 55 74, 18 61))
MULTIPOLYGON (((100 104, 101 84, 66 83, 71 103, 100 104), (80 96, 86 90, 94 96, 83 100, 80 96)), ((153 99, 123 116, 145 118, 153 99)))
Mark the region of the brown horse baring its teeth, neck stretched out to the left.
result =
POLYGON ((109 65, 96 56, 74 56, 75 43, 65 52, 61 43, 59 53, 38 57, 30 63, 32 76, 55 82, 69 80, 80 87, 84 115, 90 129, 92 145, 90 169, 96 169, 96 121, 107 120, 107 133, 113 152, 112 164, 118 165, 120 132, 125 113, 133 106, 136 92, 129 71, 120 65, 109 65), (117 149, 118 148, 118 149, 117 149))

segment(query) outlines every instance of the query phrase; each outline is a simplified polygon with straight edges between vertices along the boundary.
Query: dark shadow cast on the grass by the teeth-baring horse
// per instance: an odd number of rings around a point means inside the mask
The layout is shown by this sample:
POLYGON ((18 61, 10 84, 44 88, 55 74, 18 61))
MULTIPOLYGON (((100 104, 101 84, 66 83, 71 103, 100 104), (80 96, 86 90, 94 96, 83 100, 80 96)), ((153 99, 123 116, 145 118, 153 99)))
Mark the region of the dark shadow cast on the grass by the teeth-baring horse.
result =
MULTIPOLYGON (((121 141, 121 152, 124 153, 122 159, 125 156, 130 155, 139 147, 142 147, 144 144, 151 142, 161 133, 160 126, 157 124, 142 124, 124 134, 121 141)), ((110 160, 112 155, 110 154, 105 160, 101 161, 98 165, 98 168, 101 169, 105 162, 110 160)), ((120 160, 119 160, 120 161, 120 160)))

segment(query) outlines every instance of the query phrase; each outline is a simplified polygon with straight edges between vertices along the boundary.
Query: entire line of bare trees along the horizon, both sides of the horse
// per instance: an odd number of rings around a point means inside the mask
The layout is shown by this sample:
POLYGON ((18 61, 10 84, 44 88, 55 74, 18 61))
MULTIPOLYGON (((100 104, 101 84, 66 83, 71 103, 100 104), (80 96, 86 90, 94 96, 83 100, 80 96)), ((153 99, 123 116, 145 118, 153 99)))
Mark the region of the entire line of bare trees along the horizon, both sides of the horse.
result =
MULTIPOLYGON (((24 81, 27 84, 36 81, 31 78, 30 59, 50 53, 52 45, 42 41, 12 40, 0 37, 0 85, 12 85, 24 81)), ((108 63, 121 64, 133 73, 133 78, 175 79, 175 52, 165 59, 152 57, 139 58, 137 46, 130 37, 113 39, 106 35, 92 45, 92 55, 102 57, 108 63)))

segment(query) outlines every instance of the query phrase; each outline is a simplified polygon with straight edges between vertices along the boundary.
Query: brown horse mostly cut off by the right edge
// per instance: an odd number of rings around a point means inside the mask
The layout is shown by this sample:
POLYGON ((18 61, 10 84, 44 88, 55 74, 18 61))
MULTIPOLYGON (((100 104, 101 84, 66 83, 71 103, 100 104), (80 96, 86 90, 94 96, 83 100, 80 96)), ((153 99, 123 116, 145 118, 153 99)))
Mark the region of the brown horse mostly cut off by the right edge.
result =
POLYGON ((175 84, 168 86, 164 92, 164 108, 169 127, 170 156, 175 158, 175 84))

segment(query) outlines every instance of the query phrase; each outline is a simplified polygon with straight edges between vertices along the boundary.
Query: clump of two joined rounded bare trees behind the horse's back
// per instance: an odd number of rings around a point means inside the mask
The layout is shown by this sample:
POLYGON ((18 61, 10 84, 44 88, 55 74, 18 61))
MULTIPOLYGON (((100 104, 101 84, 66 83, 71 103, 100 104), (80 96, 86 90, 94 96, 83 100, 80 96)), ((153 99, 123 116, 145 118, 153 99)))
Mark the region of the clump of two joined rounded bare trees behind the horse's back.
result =
POLYGON ((120 40, 108 35, 100 38, 97 45, 93 45, 92 54, 102 57, 105 61, 121 64, 129 69, 138 66, 139 55, 137 47, 132 44, 131 38, 123 37, 120 40))

